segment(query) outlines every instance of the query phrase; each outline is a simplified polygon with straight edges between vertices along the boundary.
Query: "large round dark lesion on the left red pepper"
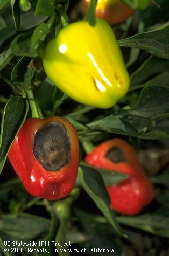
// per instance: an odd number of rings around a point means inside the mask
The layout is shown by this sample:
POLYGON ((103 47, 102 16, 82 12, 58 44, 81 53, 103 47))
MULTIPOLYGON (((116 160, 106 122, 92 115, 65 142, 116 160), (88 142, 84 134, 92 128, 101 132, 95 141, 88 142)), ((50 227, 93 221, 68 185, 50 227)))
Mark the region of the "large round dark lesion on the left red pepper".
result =
POLYGON ((51 122, 37 130, 33 154, 47 171, 58 171, 71 160, 71 144, 65 127, 51 122))

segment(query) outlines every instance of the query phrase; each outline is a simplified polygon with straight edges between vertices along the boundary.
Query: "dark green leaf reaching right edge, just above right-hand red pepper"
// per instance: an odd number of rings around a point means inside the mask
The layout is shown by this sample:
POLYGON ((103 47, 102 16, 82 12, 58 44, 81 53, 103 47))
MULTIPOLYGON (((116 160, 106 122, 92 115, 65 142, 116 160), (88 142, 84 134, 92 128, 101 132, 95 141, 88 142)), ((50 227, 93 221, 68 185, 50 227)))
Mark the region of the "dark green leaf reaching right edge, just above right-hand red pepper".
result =
POLYGON ((90 136, 88 133, 86 135, 89 136, 90 140, 97 139, 97 135, 95 136, 95 133, 98 133, 99 136, 102 135, 101 132, 96 130, 104 130, 108 133, 133 136, 140 139, 169 139, 169 120, 166 118, 159 120, 135 120, 130 119, 130 117, 109 115, 103 119, 88 123, 87 126, 90 129, 94 129, 93 132, 90 132, 90 136))

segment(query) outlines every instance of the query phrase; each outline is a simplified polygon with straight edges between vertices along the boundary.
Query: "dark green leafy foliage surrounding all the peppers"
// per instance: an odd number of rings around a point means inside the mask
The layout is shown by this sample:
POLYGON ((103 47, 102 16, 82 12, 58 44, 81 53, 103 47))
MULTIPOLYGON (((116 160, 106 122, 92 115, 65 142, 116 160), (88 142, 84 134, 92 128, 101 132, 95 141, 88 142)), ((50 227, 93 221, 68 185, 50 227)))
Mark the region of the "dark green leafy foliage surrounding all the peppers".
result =
MULTIPOLYGON (((129 140, 138 151, 143 144, 150 147, 160 143, 169 147, 169 2, 156 0, 157 4, 151 3, 145 10, 137 10, 139 0, 122 1, 136 9, 125 23, 112 27, 130 74, 131 86, 123 99, 106 110, 71 100, 52 84, 43 70, 45 46, 61 29, 62 9, 73 22, 79 19, 78 14, 76 18, 72 15, 78 13, 78 2, 0 1, 2 253, 3 241, 56 240, 71 241, 72 246, 78 248, 113 247, 116 255, 122 255, 126 244, 136 245, 132 238, 138 230, 146 231, 147 236, 156 234, 159 239, 169 237, 166 203, 169 175, 166 165, 165 170, 160 169, 160 174, 151 177, 154 188, 158 189, 158 196, 154 199, 158 204, 152 203, 152 209, 147 207, 138 216, 126 217, 116 216, 110 209, 105 189, 105 185, 116 184, 126 176, 93 169, 82 161, 87 144, 97 145, 112 137, 129 140), (7 158, 19 128, 31 117, 27 98, 30 88, 44 117, 66 117, 77 129, 80 141, 80 167, 75 188, 67 198, 52 203, 28 195, 13 174, 7 158), (162 186, 158 187, 158 183, 162 186), (128 227, 133 227, 132 231, 129 232, 128 227)), ((91 25, 95 24, 96 2, 91 1, 87 15, 91 25)), ((146 5, 150 1, 144 2, 146 5)), ((104 45, 102 48, 107 51, 104 45)), ((51 255, 50 248, 47 250, 51 255)), ((59 255, 69 254, 59 252, 59 255)))

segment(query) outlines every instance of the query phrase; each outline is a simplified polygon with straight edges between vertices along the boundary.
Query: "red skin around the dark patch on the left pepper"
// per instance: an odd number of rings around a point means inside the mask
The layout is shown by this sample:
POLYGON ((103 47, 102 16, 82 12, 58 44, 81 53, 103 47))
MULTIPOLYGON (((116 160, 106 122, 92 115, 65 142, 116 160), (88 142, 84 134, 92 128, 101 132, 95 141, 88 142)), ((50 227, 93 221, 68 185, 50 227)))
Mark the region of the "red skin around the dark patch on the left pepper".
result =
MULTIPOLYGON (((50 156, 52 157, 52 155, 50 156)), ((64 198, 73 189, 78 174, 79 142, 76 130, 68 120, 58 116, 46 119, 28 119, 19 130, 8 157, 25 189, 32 196, 48 200, 64 198), (50 126, 51 123, 59 123, 61 127, 64 127, 70 145, 69 162, 60 170, 55 171, 46 170, 33 152, 36 133, 44 127, 50 126)))

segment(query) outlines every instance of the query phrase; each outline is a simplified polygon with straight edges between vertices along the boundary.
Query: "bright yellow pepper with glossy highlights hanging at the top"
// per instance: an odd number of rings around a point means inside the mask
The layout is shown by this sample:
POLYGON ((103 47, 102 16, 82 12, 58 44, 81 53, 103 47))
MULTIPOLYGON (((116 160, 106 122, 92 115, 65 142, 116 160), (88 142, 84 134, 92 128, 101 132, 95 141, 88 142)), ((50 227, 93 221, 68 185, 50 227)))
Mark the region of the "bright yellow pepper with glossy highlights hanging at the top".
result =
POLYGON ((128 91, 130 79, 111 27, 101 19, 69 24, 46 47, 45 72, 72 99, 109 108, 128 91))

